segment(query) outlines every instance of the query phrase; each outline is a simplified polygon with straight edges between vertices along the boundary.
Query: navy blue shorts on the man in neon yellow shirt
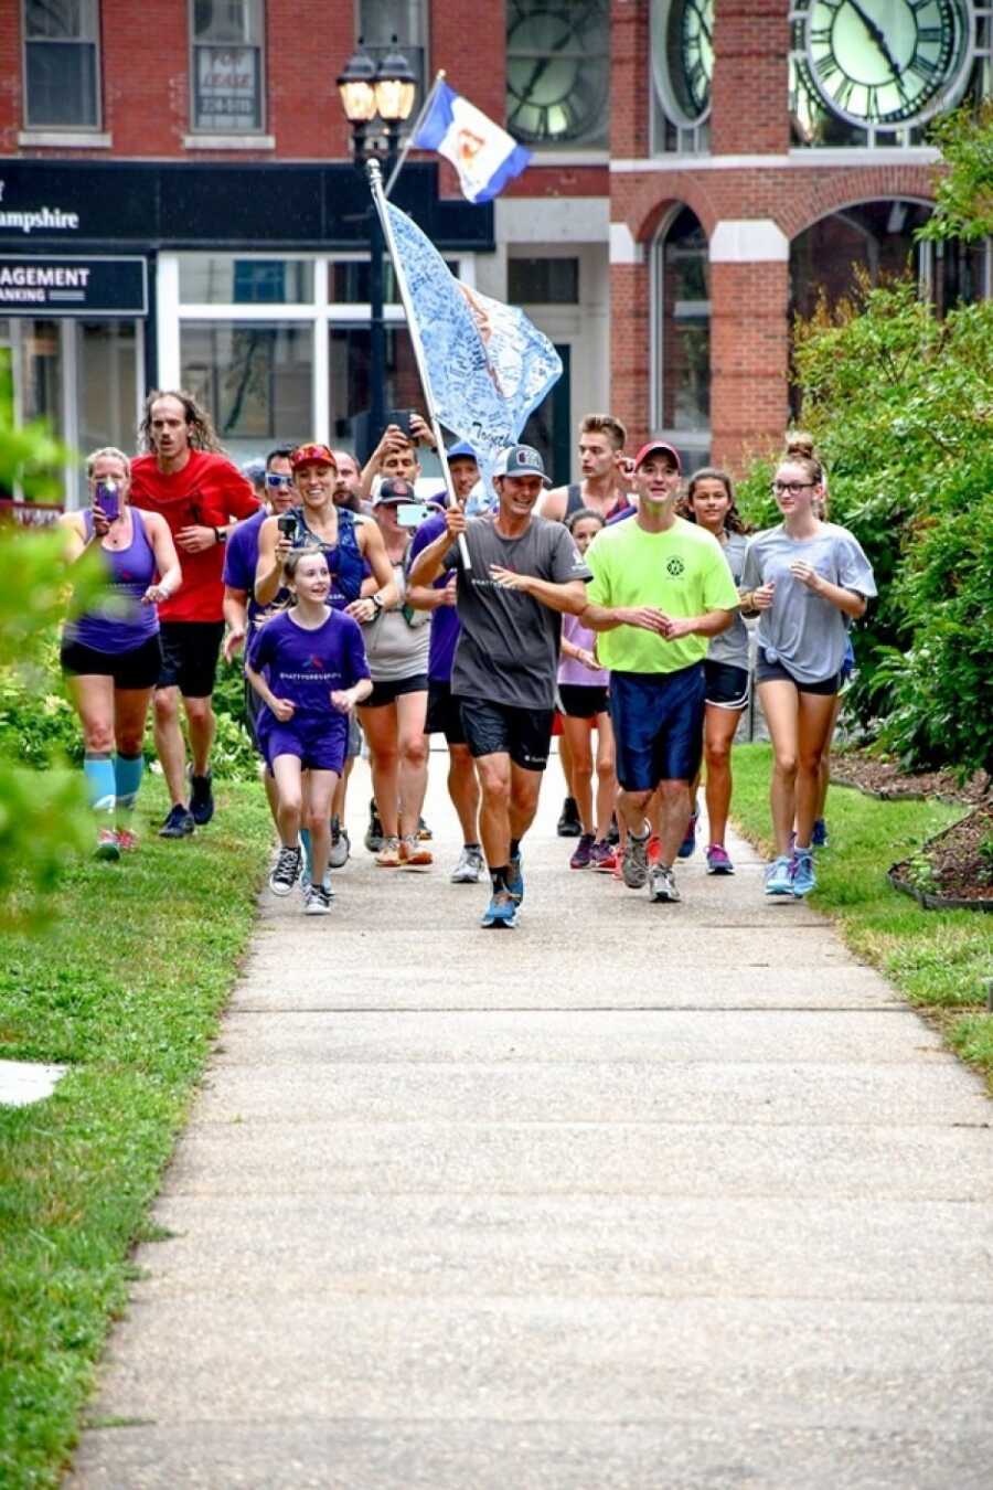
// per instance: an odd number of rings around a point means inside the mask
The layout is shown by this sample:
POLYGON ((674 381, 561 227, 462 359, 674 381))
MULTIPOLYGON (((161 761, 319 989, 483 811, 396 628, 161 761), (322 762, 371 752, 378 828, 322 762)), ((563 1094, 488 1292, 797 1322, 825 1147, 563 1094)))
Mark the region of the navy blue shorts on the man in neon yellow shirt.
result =
POLYGON ((618 781, 654 791, 660 781, 692 781, 703 751, 704 670, 610 673, 610 718, 618 781))

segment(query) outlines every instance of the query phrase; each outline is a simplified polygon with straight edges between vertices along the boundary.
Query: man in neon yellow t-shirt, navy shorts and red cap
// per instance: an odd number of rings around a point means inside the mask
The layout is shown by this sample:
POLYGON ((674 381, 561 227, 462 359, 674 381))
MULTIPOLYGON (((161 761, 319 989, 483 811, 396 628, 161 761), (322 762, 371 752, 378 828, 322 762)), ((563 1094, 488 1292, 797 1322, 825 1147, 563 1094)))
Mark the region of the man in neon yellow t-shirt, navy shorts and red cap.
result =
POLYGON ((633 517, 597 533, 587 550, 582 624, 603 632, 597 656, 610 669, 618 812, 627 825, 622 875, 648 882, 649 900, 679 900, 673 860, 689 818, 689 782, 700 766, 703 660, 712 636, 734 620, 738 593, 718 539, 676 516, 679 454, 651 440, 634 460, 633 517), (645 808, 658 788, 661 852, 648 863, 645 808))

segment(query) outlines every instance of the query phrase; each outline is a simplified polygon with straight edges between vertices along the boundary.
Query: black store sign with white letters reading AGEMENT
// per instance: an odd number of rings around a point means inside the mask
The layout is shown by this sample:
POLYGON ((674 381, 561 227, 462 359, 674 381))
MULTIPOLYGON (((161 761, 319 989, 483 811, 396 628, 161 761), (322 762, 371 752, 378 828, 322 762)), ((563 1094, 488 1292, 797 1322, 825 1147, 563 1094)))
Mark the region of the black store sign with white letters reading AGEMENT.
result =
POLYGON ((0 256, 0 316, 146 316, 143 258, 0 256))

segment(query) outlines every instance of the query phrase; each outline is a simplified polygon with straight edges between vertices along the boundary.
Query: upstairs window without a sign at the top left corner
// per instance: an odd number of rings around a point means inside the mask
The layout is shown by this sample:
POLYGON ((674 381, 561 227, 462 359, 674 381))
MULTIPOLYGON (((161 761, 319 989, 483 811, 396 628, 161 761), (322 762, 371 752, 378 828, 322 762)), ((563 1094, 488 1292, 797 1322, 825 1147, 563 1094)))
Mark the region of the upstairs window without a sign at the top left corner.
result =
POLYGON ((25 0, 28 128, 95 130, 100 18, 97 0, 25 0))

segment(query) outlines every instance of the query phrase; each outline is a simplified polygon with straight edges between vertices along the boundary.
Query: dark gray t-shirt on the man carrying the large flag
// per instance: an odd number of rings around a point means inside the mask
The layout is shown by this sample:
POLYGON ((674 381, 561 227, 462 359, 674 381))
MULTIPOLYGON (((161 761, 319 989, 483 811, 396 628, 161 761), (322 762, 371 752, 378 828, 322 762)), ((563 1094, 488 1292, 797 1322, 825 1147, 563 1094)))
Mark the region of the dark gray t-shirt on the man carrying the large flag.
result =
POLYGON ((561 523, 531 517, 520 538, 502 538, 491 514, 466 527, 472 569, 453 544, 442 563, 457 569, 456 609, 462 623, 451 691, 518 709, 554 709, 561 617, 523 590, 505 590, 490 565, 530 574, 552 584, 591 580, 572 535, 561 523))

